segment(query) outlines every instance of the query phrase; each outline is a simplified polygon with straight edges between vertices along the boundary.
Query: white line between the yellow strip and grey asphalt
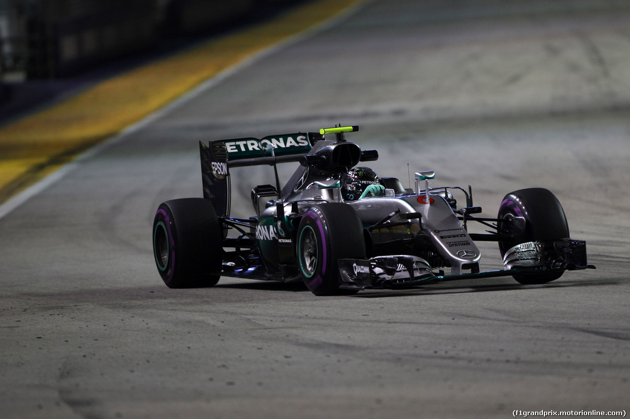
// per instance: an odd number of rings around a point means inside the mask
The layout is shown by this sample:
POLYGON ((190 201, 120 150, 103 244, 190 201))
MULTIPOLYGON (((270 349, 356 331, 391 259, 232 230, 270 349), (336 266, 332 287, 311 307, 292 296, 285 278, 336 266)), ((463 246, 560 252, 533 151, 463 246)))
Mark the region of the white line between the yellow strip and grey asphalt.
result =
POLYGON ((264 48, 260 52, 254 53, 253 55, 244 59, 243 61, 237 64, 234 64, 231 67, 228 67, 227 69, 219 72, 213 77, 210 77, 210 79, 207 79, 206 81, 202 82, 198 86, 193 87, 192 90, 182 94, 179 98, 166 104, 163 108, 160 108, 157 111, 154 111, 153 113, 142 118, 142 120, 128 126, 123 131, 121 131, 120 134, 114 135, 113 137, 110 137, 107 140, 101 143, 98 143, 98 145, 95 145, 94 147, 89 148, 89 150, 79 154, 76 157, 76 159, 72 160, 72 162, 69 162, 63 165, 62 167, 60 167, 59 170, 55 170, 55 172, 53 172, 49 176, 44 177, 42 180, 26 188, 24 191, 21 191, 20 193, 14 195, 12 198, 8 199, 8 201, 4 202, 3 204, 0 204, 0 220, 2 220, 5 216, 9 215, 9 213, 11 213, 13 210, 18 208, 21 204, 24 204, 26 203, 26 201, 33 198, 33 196, 36 196, 42 193, 43 191, 48 189, 50 186, 59 182, 68 173, 76 169, 81 164, 81 162, 93 158, 95 155, 101 152, 101 150, 105 150, 105 148, 111 147, 113 144, 122 141, 128 135, 135 133, 136 131, 142 130, 142 128, 144 128, 145 126, 151 124, 152 122, 156 120, 159 120, 159 118, 162 118, 165 115, 168 115, 168 113, 175 110, 182 104, 185 104, 191 99, 196 98, 203 92, 209 91, 210 89, 212 89, 212 87, 216 86, 217 84, 222 82, 224 79, 227 79, 227 77, 230 77, 232 74, 238 72, 239 70, 245 69, 246 67, 253 65, 256 61, 263 59, 264 57, 271 55, 272 53, 277 52, 278 50, 282 48, 285 48, 289 45, 300 42, 306 38, 309 38, 309 36, 316 35, 317 33, 321 31, 324 31, 328 28, 331 28, 332 26, 335 26, 336 23, 339 23, 340 21, 347 19, 349 16, 356 13, 360 8, 364 7, 366 4, 372 3, 372 1, 374 0, 364 1, 362 3, 355 4, 354 6, 351 6, 350 8, 347 8, 341 11, 340 13, 336 14, 335 16, 329 18, 328 20, 324 20, 323 22, 318 23, 318 25, 312 26, 306 31, 296 33, 295 35, 289 36, 289 38, 283 41, 280 41, 276 43, 275 45, 271 45, 270 47, 264 48))

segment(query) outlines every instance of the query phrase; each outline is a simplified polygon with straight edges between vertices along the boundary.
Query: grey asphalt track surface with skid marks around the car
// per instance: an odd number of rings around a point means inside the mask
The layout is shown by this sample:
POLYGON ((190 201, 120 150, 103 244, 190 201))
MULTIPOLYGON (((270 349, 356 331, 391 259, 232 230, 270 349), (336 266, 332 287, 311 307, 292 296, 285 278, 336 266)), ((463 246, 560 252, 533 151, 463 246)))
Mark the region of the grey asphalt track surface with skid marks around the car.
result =
MULTIPOLYGON (((629 28, 624 1, 374 1, 83 155, 0 219, 0 417, 627 412, 629 28), (152 218, 201 196, 198 140, 336 123, 381 176, 436 170, 487 216, 551 189, 597 270, 326 298, 161 283, 152 218)), ((266 169, 232 172, 235 215, 266 169)))

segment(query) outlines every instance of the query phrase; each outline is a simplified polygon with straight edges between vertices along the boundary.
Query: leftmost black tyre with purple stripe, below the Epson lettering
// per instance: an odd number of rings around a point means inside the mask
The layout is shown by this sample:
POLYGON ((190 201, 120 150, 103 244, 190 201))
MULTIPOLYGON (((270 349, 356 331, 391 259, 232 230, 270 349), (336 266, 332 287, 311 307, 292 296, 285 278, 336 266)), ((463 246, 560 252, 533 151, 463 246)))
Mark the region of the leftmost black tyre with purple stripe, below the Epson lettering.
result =
POLYGON ((172 199, 160 204, 153 220, 153 254, 164 283, 169 288, 217 284, 222 237, 214 206, 207 199, 172 199))

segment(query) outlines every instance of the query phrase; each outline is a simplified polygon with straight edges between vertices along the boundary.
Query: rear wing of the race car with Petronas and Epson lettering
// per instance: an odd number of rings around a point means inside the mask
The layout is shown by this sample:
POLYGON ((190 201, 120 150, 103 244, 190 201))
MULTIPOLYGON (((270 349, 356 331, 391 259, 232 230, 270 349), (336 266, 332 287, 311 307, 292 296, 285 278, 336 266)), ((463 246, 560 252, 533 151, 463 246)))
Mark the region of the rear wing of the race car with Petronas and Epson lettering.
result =
POLYGON ((199 143, 203 198, 209 199, 219 216, 230 213, 230 167, 273 165, 297 162, 308 154, 313 144, 324 137, 320 133, 269 135, 265 138, 234 138, 199 143))

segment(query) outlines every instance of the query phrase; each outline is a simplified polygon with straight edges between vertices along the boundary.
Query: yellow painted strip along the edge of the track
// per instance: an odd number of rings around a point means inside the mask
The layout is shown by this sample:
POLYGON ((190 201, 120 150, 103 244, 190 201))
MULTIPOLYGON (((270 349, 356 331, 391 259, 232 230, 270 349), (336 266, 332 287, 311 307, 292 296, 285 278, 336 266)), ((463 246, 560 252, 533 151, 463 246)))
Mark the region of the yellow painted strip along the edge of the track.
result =
POLYGON ((273 21, 103 81, 0 129, 0 202, 222 70, 364 1, 313 1, 273 21))

